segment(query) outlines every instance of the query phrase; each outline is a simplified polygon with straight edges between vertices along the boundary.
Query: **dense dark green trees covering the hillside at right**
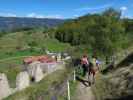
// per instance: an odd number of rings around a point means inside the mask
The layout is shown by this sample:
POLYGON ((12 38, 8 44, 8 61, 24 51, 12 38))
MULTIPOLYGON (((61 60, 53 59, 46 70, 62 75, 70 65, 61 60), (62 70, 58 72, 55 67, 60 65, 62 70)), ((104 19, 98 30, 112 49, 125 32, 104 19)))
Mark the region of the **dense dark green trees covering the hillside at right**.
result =
POLYGON ((133 42, 133 20, 121 18, 112 8, 100 14, 88 14, 61 25, 55 37, 98 55, 113 55, 133 42))

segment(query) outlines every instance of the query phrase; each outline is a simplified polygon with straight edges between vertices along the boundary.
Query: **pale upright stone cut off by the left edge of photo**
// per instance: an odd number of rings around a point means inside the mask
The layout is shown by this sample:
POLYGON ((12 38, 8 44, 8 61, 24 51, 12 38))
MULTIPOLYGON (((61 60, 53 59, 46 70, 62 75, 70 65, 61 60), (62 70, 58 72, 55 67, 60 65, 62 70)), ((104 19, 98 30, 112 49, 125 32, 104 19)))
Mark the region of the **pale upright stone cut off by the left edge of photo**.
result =
POLYGON ((9 96, 11 94, 11 89, 5 74, 0 73, 0 100, 9 96))

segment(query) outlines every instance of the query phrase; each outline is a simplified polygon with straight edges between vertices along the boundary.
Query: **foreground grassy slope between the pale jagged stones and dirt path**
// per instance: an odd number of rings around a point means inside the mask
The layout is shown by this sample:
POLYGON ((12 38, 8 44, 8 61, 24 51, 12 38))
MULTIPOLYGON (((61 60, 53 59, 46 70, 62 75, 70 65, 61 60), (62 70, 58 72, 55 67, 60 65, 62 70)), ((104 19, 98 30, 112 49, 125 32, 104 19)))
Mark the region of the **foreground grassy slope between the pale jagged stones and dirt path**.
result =
MULTIPOLYGON (((71 68, 58 70, 46 76, 39 83, 32 83, 27 89, 17 92, 4 100, 51 100, 53 96, 56 96, 57 100, 67 100, 67 83, 64 84, 64 82, 66 82, 68 77, 72 77, 72 75, 71 68)), ((77 82, 71 80, 70 91, 72 98, 76 91, 76 86, 77 82)))

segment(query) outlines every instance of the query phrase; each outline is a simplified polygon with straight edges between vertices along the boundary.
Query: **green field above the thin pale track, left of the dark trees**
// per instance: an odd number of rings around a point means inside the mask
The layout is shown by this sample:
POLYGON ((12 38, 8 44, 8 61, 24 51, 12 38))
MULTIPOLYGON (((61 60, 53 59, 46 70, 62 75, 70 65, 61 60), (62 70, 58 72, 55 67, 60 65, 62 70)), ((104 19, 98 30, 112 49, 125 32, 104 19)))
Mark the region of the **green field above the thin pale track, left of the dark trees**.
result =
POLYGON ((25 31, 9 33, 0 38, 0 59, 44 53, 36 49, 31 51, 29 48, 46 48, 51 52, 63 52, 70 49, 71 46, 67 43, 61 43, 54 38, 45 37, 45 34, 42 32, 31 34, 26 34, 25 31), (34 46, 29 45, 32 42, 35 43, 34 46))

